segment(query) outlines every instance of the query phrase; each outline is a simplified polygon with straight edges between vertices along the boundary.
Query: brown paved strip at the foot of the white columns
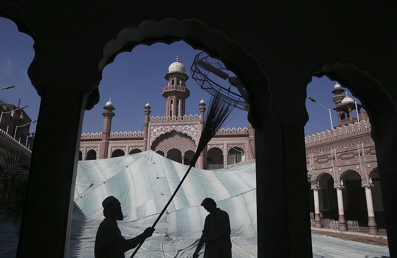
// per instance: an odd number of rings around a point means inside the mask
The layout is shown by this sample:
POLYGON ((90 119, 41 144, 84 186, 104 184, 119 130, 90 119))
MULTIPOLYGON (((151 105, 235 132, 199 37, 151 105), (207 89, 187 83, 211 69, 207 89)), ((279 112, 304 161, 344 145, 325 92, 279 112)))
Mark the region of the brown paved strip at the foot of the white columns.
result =
POLYGON ((380 229, 378 236, 368 235, 368 228, 360 227, 359 230, 349 230, 341 232, 338 230, 333 230, 329 228, 314 228, 312 227, 313 234, 319 234, 324 236, 330 236, 334 238, 339 238, 343 240, 349 240, 364 244, 389 247, 388 239, 386 236, 386 230, 380 229))

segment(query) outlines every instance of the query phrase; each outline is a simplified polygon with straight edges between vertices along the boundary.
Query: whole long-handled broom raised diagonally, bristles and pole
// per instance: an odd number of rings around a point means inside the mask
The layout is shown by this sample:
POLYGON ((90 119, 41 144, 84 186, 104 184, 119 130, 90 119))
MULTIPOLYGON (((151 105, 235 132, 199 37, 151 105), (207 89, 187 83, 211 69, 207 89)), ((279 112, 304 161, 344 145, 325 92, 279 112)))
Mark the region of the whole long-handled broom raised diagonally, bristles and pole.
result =
MULTIPOLYGON (((229 105, 228 103, 223 102, 219 95, 211 98, 211 100, 209 101, 209 108, 208 108, 208 111, 207 111, 206 117, 205 117, 204 128, 201 133, 199 144, 197 145, 196 153, 193 156, 192 160, 190 161, 190 166, 189 166, 188 170, 186 171, 181 182, 175 189, 170 200, 164 206, 163 210, 158 215, 156 221, 154 221, 152 228, 154 228, 156 226, 157 222, 160 220, 161 216, 164 214, 165 210, 170 205, 172 199, 174 199, 174 197, 175 197, 176 193, 178 192, 179 188, 181 187, 183 181, 185 181, 185 178, 188 176, 190 170, 196 164, 196 161, 199 159, 200 153, 204 150, 204 148, 208 144, 208 142, 212 139, 212 137, 216 134, 218 129, 226 121, 226 119, 228 118, 228 116, 230 115, 232 110, 233 110, 233 106, 229 105)), ((138 252, 138 250, 142 246, 142 244, 143 244, 143 242, 140 243, 136 247, 135 251, 133 252, 133 254, 131 255, 130 258, 133 258, 135 256, 136 252, 138 252)))

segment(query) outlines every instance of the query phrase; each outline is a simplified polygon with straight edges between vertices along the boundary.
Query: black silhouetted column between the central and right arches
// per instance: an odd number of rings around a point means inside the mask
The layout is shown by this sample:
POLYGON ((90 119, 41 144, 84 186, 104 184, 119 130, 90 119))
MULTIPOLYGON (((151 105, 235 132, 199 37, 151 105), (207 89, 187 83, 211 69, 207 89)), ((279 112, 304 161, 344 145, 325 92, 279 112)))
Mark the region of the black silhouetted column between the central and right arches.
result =
POLYGON ((255 128, 258 257, 313 257, 303 137, 271 114, 255 128))

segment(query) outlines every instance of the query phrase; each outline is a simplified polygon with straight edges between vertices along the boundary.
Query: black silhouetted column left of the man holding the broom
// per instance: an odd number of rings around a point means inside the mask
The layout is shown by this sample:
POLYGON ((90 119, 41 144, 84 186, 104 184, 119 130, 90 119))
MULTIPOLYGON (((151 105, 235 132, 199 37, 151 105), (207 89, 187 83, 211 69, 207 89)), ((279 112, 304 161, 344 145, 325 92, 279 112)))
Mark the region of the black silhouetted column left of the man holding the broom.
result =
POLYGON ((47 87, 41 92, 18 258, 68 255, 78 148, 87 100, 88 94, 67 88, 47 87))

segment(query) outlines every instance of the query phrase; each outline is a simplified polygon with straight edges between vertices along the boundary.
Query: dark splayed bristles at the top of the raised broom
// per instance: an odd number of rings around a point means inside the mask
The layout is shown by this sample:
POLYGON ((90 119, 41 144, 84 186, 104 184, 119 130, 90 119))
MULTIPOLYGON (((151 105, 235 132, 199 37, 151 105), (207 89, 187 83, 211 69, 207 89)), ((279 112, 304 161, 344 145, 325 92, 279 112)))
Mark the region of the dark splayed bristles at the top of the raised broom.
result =
POLYGON ((196 153, 193 156, 190 165, 194 166, 196 164, 200 153, 204 150, 212 137, 214 137, 219 128, 224 124, 232 111, 233 106, 223 102, 220 98, 220 94, 217 94, 210 99, 209 108, 204 121, 204 128, 200 136, 199 144, 197 145, 196 153))

